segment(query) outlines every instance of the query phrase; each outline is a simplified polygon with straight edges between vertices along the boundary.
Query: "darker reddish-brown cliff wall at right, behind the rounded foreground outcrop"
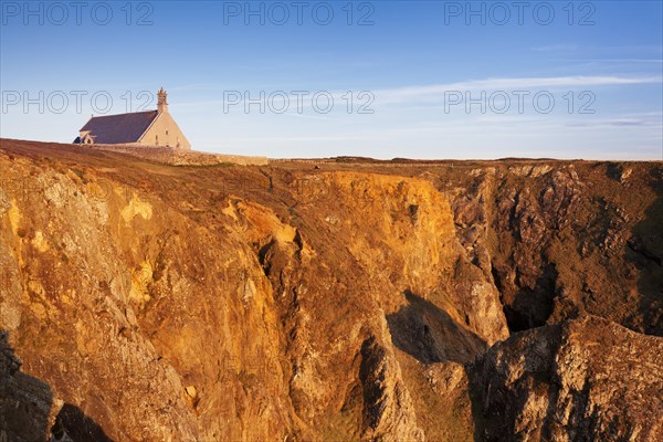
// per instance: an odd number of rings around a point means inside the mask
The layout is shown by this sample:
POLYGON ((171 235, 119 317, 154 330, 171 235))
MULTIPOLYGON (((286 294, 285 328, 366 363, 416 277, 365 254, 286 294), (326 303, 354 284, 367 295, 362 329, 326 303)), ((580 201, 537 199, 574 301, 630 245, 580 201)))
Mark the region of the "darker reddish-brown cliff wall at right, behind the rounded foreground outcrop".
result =
POLYGON ((661 164, 446 172, 461 240, 491 271, 512 330, 594 314, 663 334, 661 164))

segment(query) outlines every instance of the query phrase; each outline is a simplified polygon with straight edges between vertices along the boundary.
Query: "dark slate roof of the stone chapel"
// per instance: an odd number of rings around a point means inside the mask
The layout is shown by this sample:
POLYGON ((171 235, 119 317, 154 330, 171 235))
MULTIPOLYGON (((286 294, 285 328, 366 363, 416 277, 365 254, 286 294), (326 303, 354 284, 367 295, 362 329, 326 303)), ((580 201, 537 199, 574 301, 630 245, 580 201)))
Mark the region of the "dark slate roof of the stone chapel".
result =
MULTIPOLYGON (((90 130, 96 144, 136 143, 158 114, 157 110, 147 110, 92 117, 81 130, 90 130)), ((74 143, 80 141, 80 138, 74 140, 74 143)))

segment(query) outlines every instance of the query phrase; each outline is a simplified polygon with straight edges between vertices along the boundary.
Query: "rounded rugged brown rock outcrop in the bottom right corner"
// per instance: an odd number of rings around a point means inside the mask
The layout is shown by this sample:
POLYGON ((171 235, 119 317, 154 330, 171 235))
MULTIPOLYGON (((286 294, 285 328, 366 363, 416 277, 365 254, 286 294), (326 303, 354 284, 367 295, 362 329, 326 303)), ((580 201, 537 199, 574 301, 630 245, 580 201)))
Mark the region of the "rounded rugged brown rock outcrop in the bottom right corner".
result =
POLYGON ((516 334, 471 372, 485 440, 663 439, 663 341, 607 319, 516 334))

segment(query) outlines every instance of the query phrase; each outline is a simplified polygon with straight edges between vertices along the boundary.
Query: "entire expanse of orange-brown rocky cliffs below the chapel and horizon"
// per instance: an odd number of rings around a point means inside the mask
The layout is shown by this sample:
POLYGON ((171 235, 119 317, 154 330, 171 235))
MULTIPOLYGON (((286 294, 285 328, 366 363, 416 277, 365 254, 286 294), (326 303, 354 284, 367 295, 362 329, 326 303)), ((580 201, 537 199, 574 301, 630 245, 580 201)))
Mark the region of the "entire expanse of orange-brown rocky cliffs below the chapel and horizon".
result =
POLYGON ((175 167, 2 140, 0 434, 656 435, 662 167, 548 162, 175 167))

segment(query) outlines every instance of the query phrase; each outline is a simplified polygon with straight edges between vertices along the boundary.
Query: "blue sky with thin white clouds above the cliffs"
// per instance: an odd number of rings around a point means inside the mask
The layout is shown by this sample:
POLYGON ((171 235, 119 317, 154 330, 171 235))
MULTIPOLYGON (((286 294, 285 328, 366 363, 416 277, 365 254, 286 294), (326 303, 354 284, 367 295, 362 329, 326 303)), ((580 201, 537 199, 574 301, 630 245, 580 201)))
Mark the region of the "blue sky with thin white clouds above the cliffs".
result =
POLYGON ((2 137, 164 86, 197 150, 663 159, 661 1, 0 3, 2 137))

